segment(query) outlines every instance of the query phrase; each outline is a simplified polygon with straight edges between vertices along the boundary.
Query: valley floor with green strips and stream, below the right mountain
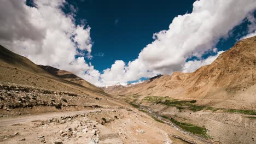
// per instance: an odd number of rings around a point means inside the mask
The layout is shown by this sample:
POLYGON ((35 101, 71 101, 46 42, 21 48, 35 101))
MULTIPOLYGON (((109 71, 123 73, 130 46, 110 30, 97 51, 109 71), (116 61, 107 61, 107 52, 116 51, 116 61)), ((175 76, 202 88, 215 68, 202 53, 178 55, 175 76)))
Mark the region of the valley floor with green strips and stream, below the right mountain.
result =
POLYGON ((202 139, 212 139, 219 143, 231 143, 234 140, 238 143, 254 142, 254 110, 200 106, 195 105, 196 100, 180 101, 154 96, 139 101, 138 95, 131 95, 127 101, 140 111, 155 117, 156 121, 171 123, 174 127, 202 139))

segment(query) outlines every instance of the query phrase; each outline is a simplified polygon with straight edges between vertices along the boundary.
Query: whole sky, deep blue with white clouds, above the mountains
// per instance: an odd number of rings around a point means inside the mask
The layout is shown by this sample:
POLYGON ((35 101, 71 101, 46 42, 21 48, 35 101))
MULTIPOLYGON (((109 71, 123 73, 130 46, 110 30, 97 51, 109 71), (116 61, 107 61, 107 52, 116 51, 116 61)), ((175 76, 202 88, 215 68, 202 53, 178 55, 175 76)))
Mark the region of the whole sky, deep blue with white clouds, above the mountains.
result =
POLYGON ((256 1, 3 0, 0 44, 96 86, 211 64, 256 35, 256 1))

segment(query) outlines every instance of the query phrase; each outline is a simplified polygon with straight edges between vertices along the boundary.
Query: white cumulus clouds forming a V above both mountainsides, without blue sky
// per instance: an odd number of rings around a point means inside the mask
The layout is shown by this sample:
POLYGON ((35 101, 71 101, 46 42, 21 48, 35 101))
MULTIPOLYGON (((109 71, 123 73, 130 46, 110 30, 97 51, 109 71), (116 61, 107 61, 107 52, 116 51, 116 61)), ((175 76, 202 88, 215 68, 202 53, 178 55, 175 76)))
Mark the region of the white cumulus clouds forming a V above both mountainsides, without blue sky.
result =
MULTIPOLYGON (((92 58, 90 27, 75 23, 72 5, 65 0, 34 0, 28 7, 25 0, 0 1, 0 43, 26 56, 37 64, 51 65, 72 71, 97 86, 135 81, 173 71, 194 71, 210 64, 215 56, 201 59, 209 51, 217 52, 220 38, 239 25, 256 8, 255 0, 200 0, 193 11, 176 16, 168 29, 153 34, 154 41, 134 61, 115 61, 100 73, 86 58, 92 58), (71 12, 62 11, 68 5, 71 12), (201 60, 188 61, 190 57, 201 60)), ((254 32, 255 26, 249 27, 254 32)), ((97 41, 95 41, 97 43, 97 41)))

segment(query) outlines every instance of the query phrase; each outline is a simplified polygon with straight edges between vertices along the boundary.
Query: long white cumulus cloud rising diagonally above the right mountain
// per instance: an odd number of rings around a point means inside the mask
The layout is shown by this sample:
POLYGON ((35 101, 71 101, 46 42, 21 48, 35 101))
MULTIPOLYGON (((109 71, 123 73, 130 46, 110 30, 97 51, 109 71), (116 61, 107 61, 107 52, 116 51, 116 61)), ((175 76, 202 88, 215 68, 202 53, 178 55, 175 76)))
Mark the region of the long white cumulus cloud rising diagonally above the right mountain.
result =
MULTIPOLYGON (((208 51, 217 52, 214 47, 220 38, 239 25, 246 17, 253 21, 250 13, 255 10, 256 1, 201 0, 193 4, 193 11, 178 15, 169 28, 153 35, 154 41, 139 53, 135 61, 121 65, 120 71, 108 69, 104 83, 110 83, 111 74, 123 75, 119 80, 133 81, 140 77, 156 74, 171 74, 173 71, 194 71, 210 64, 219 55, 200 61, 186 60, 201 56, 208 51), (109 76, 110 79, 107 79, 109 76)), ((251 27, 253 28, 253 27, 251 27)), ((116 63, 112 67, 118 66, 116 63)), ((104 75, 104 74, 103 74, 104 75)))

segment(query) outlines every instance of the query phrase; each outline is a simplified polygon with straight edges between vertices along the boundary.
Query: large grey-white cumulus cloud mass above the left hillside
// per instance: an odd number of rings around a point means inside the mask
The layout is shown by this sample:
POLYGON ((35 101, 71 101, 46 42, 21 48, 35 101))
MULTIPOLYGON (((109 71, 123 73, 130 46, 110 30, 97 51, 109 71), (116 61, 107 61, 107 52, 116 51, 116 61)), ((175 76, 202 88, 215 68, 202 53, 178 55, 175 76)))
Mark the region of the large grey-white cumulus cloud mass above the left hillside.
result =
POLYGON ((36 64, 72 71, 97 85, 100 73, 84 58, 92 57, 91 28, 75 25, 75 9, 64 0, 33 2, 35 7, 25 0, 0 1, 1 45, 36 64), (65 4, 71 13, 63 13, 65 4))

